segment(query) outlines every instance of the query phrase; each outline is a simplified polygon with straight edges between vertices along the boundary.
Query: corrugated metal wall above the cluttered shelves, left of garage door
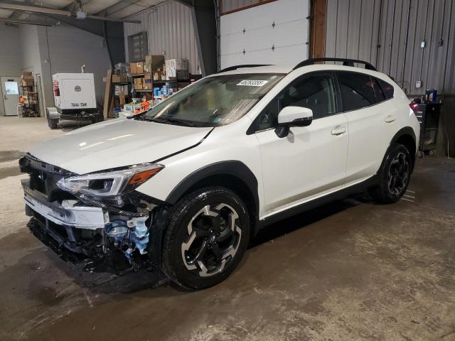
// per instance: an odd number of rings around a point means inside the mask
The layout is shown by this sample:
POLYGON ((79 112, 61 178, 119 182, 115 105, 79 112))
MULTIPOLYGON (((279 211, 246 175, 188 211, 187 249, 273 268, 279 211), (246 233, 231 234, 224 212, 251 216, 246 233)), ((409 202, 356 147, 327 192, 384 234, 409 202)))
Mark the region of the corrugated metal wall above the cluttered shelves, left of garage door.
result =
POLYGON ((187 6, 177 1, 168 1, 129 18, 140 20, 141 23, 124 23, 127 60, 127 37, 146 31, 149 54, 161 55, 161 51, 165 51, 166 59, 186 58, 189 71, 193 74, 200 73, 193 19, 187 6))

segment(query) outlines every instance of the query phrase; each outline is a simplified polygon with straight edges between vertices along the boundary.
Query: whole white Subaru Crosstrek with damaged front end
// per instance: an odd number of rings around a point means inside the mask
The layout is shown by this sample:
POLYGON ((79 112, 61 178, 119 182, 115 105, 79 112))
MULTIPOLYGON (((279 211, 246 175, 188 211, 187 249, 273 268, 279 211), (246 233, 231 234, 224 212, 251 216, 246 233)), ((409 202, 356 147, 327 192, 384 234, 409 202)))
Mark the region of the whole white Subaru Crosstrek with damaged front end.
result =
POLYGON ((363 189, 397 202, 419 139, 410 100, 368 63, 326 60, 230 67, 36 146, 20 161, 28 227, 90 269, 158 268, 200 289, 266 224, 363 189))

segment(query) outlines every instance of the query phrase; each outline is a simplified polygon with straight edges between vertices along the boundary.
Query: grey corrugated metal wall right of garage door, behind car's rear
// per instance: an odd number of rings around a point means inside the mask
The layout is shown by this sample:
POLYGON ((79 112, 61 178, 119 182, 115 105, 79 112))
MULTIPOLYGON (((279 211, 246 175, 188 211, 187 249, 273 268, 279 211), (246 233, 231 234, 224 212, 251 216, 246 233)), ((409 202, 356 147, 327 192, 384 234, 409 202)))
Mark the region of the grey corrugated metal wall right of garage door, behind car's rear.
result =
POLYGON ((326 57, 367 60, 407 94, 455 94, 454 18, 455 0, 327 0, 326 57))

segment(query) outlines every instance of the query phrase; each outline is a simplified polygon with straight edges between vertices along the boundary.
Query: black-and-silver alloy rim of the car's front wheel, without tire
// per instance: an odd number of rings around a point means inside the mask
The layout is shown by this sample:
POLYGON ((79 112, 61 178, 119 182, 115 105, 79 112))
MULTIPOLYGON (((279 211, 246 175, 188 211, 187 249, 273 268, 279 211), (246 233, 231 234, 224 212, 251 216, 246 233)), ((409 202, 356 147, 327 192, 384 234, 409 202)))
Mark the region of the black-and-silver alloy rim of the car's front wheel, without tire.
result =
POLYGON ((206 205, 188 223, 188 239, 181 245, 183 264, 199 276, 220 273, 240 245, 242 227, 235 209, 225 203, 206 205))

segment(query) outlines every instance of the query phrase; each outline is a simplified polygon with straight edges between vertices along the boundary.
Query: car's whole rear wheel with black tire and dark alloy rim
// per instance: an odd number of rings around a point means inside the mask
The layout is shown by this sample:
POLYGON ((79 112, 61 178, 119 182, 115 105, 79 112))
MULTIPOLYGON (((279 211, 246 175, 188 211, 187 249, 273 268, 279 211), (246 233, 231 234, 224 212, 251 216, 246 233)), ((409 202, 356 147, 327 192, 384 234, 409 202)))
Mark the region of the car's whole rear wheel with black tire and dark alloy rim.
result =
POLYGON ((380 171, 379 183, 368 192, 377 202, 392 204, 401 199, 410 183, 412 159, 402 144, 393 144, 387 151, 380 171))

